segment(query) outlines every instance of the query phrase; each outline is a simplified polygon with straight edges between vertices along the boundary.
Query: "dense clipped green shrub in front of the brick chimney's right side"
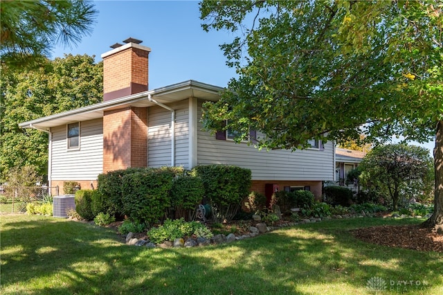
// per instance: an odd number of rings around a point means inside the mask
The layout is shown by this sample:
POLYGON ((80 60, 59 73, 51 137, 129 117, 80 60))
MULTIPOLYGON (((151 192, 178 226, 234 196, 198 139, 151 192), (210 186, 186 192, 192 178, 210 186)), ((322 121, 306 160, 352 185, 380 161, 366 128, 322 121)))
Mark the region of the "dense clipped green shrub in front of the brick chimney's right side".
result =
POLYGON ((122 179, 123 211, 131 220, 152 224, 161 220, 171 207, 169 191, 174 171, 147 169, 122 179))

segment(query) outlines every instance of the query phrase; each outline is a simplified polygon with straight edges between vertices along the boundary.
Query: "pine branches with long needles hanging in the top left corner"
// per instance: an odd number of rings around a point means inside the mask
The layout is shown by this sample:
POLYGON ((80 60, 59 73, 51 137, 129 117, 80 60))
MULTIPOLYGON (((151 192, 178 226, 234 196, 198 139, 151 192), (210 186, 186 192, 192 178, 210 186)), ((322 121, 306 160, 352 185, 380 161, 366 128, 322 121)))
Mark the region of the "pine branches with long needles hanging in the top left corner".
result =
MULTIPOLYGON (((76 44, 91 33, 97 10, 89 1, 2 1, 1 63, 23 68, 44 62, 55 44, 76 44)), ((5 70, 5 67, 2 66, 5 70)))

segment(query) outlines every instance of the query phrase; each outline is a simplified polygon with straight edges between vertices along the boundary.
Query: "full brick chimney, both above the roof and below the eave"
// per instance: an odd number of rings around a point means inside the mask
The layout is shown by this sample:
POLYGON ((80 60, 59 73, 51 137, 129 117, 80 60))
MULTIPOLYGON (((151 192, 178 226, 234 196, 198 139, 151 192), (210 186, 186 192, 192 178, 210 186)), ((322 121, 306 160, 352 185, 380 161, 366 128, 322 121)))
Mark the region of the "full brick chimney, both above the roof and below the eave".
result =
MULTIPOLYGON (((147 91, 151 48, 129 38, 103 58, 103 100, 147 91)), ((103 114, 103 172, 147 166, 147 107, 125 107, 103 114)))

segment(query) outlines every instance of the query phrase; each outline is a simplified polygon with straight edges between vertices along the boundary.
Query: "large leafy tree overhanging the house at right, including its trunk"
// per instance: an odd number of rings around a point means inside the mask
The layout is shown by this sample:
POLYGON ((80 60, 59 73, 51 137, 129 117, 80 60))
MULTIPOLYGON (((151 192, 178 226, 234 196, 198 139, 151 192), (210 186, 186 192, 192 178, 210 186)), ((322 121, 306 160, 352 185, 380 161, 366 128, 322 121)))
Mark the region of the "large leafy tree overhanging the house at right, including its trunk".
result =
POLYGON ((261 134, 266 148, 309 138, 386 141, 435 136, 435 211, 443 227, 443 2, 203 1, 204 30, 237 68, 204 126, 261 134))

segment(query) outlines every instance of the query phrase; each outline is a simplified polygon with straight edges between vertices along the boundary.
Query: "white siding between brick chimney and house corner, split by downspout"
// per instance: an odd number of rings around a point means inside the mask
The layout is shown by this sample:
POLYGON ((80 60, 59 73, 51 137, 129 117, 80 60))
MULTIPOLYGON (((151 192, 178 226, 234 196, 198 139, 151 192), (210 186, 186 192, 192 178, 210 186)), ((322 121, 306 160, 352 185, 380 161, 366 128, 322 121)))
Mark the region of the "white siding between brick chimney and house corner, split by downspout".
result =
MULTIPOLYGON (((175 110, 175 166, 188 168, 189 102, 181 100, 170 107, 175 110)), ((148 166, 171 166, 171 111, 156 106, 148 113, 148 166)))

